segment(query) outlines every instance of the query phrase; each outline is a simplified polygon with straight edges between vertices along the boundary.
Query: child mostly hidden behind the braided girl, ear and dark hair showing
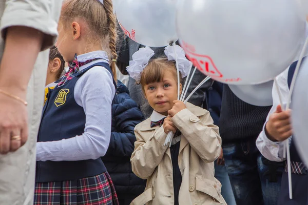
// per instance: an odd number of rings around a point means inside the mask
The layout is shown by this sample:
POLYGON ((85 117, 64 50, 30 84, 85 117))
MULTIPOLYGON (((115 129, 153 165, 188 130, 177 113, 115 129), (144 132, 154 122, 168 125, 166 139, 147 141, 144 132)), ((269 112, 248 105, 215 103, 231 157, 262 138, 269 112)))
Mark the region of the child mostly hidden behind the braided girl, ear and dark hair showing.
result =
POLYGON ((59 78, 61 77, 61 74, 64 70, 64 65, 65 61, 62 55, 57 50, 57 48, 53 46, 49 52, 49 63, 48 63, 46 86, 45 86, 45 100, 44 100, 45 103, 47 100, 47 94, 49 88, 54 89, 54 87, 57 85, 56 80, 59 80, 59 78))

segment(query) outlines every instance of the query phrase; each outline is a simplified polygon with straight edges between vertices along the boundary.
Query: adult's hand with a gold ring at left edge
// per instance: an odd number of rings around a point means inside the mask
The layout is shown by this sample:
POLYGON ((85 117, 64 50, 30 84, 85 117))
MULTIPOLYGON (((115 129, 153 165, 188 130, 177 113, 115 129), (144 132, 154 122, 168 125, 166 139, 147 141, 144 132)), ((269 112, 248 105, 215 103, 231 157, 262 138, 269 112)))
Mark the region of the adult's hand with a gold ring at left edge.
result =
MULTIPOLYGON (((5 90, 5 88, 1 88, 5 90)), ((5 90, 8 92, 7 90, 5 90)), ((10 92, 9 92, 10 93, 10 92)), ((25 98, 25 94, 20 95, 25 98)), ((14 152, 28 138, 27 107, 20 101, 0 93, 0 153, 14 152)))

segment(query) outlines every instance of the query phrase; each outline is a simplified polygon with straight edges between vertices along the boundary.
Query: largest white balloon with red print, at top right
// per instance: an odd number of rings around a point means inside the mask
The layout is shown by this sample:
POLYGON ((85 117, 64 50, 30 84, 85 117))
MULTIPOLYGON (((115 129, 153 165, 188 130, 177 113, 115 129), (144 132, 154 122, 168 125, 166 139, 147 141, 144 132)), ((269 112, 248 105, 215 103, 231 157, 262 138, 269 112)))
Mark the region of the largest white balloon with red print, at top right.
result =
POLYGON ((260 84, 293 62, 305 37, 301 4, 290 0, 181 0, 177 31, 198 69, 227 84, 260 84))

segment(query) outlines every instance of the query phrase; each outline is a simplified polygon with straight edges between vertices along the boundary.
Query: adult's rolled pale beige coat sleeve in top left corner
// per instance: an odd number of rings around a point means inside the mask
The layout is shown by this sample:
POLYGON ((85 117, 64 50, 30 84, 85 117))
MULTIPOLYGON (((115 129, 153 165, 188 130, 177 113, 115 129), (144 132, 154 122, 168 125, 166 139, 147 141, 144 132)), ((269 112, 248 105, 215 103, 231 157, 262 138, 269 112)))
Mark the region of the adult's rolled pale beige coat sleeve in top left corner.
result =
POLYGON ((6 29, 25 26, 45 33, 42 50, 51 47, 57 36, 62 0, 6 0, 0 29, 5 39, 6 29))

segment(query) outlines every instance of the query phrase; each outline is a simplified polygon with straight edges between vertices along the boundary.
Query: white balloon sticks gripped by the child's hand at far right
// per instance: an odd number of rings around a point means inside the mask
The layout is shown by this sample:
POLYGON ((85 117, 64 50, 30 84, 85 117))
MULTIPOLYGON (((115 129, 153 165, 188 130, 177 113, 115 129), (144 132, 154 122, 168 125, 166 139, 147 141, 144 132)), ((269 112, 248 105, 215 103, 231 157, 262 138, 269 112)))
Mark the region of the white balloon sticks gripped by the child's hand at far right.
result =
MULTIPOLYGON (((290 86, 290 92, 289 92, 289 95, 288 95, 288 100, 286 102, 286 108, 285 110, 288 110, 290 108, 290 103, 291 103, 291 97, 292 97, 292 93, 293 93, 293 90, 294 90, 294 85, 295 85, 295 81, 296 81, 296 77, 297 77, 297 74, 298 74, 298 71, 299 71, 299 68, 300 68, 300 65, 301 65, 301 62, 302 62, 302 59, 304 57, 304 54, 305 54, 305 51, 306 51, 306 47, 308 45, 308 37, 306 38, 306 41, 304 43, 304 46, 303 46, 303 49, 300 53, 300 57, 299 57, 299 60, 297 62, 297 65, 296 65, 296 68, 295 68, 295 71, 294 71, 294 74, 293 74, 293 77, 292 77, 292 81, 291 81, 291 86, 290 86)), ((281 109, 284 110, 283 108, 283 102, 282 102, 282 98, 281 98, 281 92, 279 90, 279 87, 278 87, 278 83, 277 83, 277 80, 276 78, 274 79, 274 83, 276 85, 276 88, 277 88, 277 92, 278 92, 278 95, 279 95, 279 100, 280 100, 280 105, 281 105, 281 109)), ((287 162, 287 176, 288 176, 288 190, 289 190, 289 198, 290 199, 293 199, 293 192, 292 192, 292 175, 291 175, 291 158, 290 158, 290 145, 289 145, 289 140, 286 139, 283 141, 283 157, 285 158, 285 153, 286 153, 286 162, 287 162)))

